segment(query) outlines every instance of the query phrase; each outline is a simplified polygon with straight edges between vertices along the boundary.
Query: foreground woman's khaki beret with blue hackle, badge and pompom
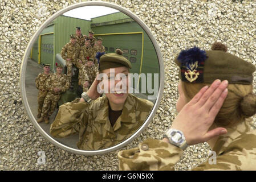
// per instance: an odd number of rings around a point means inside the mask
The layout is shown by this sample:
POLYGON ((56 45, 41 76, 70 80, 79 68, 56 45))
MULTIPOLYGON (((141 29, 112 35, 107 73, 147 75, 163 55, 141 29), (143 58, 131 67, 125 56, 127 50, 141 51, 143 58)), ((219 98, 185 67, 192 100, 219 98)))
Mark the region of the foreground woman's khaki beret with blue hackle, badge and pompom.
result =
POLYGON ((212 83, 220 79, 229 81, 229 84, 250 85, 253 82, 255 66, 226 51, 227 47, 217 42, 209 51, 201 50, 196 46, 181 51, 174 59, 180 67, 181 81, 212 83))

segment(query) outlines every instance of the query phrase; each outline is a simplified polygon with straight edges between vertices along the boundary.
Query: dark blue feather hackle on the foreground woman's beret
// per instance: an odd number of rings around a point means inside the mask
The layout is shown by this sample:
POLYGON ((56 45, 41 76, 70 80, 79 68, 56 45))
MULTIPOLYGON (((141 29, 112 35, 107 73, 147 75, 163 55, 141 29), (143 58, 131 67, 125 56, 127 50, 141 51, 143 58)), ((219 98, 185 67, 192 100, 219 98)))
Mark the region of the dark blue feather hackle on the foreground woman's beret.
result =
POLYGON ((185 64, 190 70, 189 64, 204 62, 207 59, 206 52, 198 47, 193 47, 188 50, 181 51, 177 58, 182 64, 185 64))

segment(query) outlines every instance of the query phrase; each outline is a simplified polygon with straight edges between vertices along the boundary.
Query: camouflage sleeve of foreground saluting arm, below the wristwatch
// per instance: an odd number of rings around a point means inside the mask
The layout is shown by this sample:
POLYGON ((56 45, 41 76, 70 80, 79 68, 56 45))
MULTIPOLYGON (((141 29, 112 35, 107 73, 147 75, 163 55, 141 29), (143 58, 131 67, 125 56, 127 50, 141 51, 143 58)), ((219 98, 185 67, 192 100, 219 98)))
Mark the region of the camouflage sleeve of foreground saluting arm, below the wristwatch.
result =
POLYGON ((120 151, 120 170, 174 170, 174 165, 180 160, 181 148, 157 139, 147 139, 138 148, 120 151))

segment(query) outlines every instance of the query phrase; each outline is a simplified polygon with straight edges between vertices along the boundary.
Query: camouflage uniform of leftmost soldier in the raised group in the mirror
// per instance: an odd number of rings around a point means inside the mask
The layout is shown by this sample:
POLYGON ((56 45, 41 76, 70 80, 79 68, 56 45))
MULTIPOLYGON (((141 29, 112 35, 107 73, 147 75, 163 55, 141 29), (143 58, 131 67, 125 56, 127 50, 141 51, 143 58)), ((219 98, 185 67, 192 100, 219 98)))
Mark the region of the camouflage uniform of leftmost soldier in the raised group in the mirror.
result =
POLYGON ((70 61, 66 60, 67 65, 67 77, 68 80, 71 82, 72 77, 72 64, 75 64, 76 67, 79 68, 79 53, 80 53, 80 46, 78 43, 72 44, 71 42, 67 43, 60 51, 60 55, 64 60, 71 59, 70 61))

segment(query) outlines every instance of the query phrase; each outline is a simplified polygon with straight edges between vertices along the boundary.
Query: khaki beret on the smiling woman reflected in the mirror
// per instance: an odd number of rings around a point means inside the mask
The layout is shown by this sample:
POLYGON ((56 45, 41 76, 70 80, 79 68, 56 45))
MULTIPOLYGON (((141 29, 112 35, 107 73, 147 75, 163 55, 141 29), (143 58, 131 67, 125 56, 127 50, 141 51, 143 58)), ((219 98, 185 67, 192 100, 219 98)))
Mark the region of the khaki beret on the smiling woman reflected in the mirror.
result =
POLYGON ((107 53, 100 57, 99 71, 117 67, 132 68, 131 62, 123 56, 123 51, 120 49, 116 49, 116 53, 107 53))

